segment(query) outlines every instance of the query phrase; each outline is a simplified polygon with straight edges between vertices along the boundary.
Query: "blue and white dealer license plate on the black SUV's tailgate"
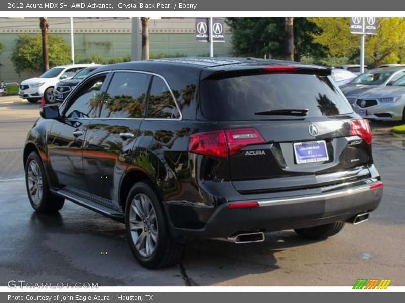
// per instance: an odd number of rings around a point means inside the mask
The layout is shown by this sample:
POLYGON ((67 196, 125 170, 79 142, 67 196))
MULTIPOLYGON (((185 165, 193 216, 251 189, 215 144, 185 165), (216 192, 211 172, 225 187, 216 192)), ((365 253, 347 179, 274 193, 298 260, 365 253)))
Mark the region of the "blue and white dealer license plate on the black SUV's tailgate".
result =
POLYGON ((325 141, 294 143, 297 164, 328 161, 325 141))

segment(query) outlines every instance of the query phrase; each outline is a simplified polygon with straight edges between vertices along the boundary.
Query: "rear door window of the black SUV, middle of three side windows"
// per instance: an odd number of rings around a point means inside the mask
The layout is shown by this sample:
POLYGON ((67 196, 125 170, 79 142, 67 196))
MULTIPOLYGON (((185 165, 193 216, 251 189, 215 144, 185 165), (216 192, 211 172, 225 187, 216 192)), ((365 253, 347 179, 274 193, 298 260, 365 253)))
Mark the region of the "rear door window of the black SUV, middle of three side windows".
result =
POLYGON ((136 72, 114 73, 100 117, 143 118, 151 76, 136 72))

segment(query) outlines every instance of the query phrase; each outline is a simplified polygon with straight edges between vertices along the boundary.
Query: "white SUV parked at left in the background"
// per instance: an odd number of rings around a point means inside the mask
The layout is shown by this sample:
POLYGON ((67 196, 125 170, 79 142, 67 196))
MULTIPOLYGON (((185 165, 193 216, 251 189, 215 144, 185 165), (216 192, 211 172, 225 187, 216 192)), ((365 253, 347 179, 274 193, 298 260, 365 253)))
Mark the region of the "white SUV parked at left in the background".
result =
POLYGON ((72 78, 78 71, 90 65, 91 64, 71 64, 55 66, 39 77, 24 80, 20 84, 20 98, 35 103, 44 96, 46 103, 54 103, 55 96, 53 90, 55 84, 60 80, 72 78))

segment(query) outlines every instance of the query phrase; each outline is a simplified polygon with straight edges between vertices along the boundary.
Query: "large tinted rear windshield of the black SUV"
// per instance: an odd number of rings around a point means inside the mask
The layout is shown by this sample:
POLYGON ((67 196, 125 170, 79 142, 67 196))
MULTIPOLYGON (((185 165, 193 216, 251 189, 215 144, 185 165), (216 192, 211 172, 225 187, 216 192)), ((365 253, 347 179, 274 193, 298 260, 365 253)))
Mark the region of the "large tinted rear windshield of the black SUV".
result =
POLYGON ((201 81, 201 102, 205 117, 223 121, 280 119, 280 115, 255 113, 282 109, 307 109, 305 117, 353 112, 328 77, 303 74, 261 74, 219 80, 205 79, 201 81))

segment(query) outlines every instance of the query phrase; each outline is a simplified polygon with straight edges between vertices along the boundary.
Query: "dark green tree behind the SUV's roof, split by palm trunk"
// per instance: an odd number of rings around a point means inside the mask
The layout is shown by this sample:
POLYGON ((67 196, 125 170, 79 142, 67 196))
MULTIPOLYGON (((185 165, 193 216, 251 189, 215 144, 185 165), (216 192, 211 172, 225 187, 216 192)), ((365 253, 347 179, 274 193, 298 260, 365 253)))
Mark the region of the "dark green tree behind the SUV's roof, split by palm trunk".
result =
MULTIPOLYGON (((226 18, 232 32, 232 53, 235 56, 272 58, 285 57, 285 18, 226 18)), ((308 18, 294 18, 294 60, 303 56, 322 57, 325 47, 315 43, 312 33, 320 29, 308 18)))

